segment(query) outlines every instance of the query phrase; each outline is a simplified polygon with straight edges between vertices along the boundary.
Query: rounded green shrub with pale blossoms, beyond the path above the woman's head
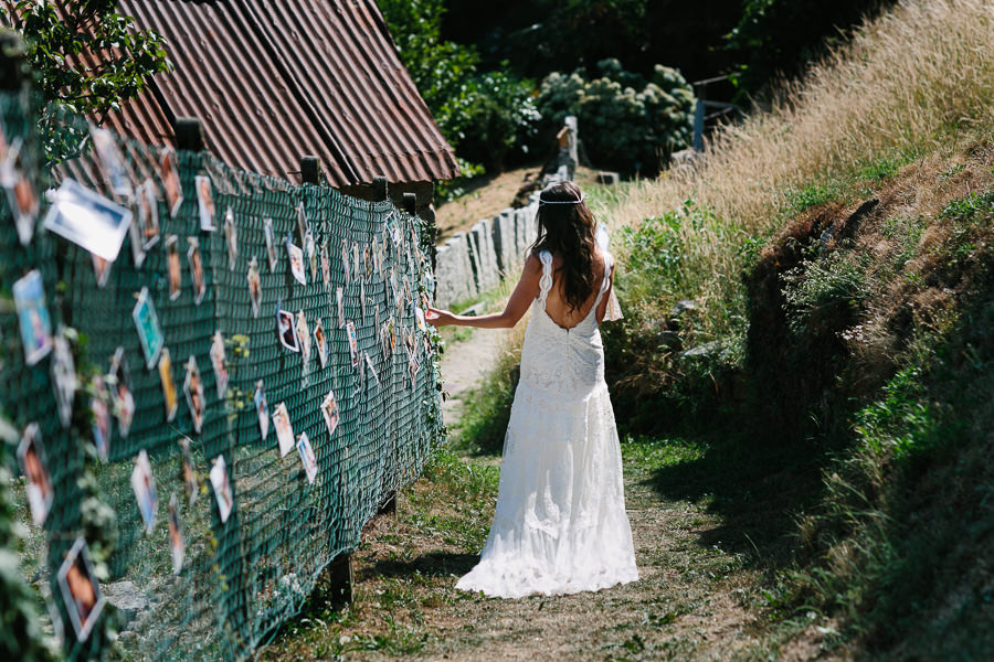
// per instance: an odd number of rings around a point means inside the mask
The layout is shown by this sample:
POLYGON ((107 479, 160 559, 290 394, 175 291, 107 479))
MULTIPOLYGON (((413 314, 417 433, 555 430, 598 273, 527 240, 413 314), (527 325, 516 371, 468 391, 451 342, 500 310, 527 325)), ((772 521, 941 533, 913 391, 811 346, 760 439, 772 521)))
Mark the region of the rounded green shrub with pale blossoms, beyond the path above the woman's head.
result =
POLYGON ((617 60, 598 63, 600 77, 582 72, 546 76, 537 107, 547 130, 577 116, 590 160, 598 167, 653 174, 694 131, 694 93, 676 70, 656 65, 646 81, 617 60))

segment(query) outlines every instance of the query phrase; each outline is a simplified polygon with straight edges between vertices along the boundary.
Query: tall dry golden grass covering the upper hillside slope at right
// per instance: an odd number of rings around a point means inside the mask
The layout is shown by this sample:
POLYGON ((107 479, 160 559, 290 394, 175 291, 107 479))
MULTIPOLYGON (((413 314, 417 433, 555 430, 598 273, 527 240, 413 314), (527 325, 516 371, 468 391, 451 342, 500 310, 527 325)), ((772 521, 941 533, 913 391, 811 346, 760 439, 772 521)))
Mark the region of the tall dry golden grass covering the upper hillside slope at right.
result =
MULTIPOLYGON (((792 188, 884 156, 928 153, 951 135, 991 126, 994 2, 908 0, 812 66, 772 109, 719 131, 696 173, 632 186, 612 224, 637 225, 694 199, 713 218, 684 227, 686 268, 700 284, 686 296, 737 308, 738 250, 781 221, 792 188)), ((712 310, 705 325, 717 334, 730 313, 712 310)))

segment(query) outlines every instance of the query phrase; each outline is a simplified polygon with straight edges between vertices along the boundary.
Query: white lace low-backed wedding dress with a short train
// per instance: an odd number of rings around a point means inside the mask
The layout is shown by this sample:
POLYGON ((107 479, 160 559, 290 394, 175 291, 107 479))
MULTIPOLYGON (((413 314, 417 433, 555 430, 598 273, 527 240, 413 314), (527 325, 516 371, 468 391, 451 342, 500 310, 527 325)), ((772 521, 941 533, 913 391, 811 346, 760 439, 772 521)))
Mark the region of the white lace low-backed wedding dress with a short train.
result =
POLYGON ((638 578, 596 321, 611 258, 594 307, 563 329, 546 312, 552 256, 539 257, 540 292, 521 350, 497 511, 479 564, 456 584, 501 598, 598 590, 638 578))

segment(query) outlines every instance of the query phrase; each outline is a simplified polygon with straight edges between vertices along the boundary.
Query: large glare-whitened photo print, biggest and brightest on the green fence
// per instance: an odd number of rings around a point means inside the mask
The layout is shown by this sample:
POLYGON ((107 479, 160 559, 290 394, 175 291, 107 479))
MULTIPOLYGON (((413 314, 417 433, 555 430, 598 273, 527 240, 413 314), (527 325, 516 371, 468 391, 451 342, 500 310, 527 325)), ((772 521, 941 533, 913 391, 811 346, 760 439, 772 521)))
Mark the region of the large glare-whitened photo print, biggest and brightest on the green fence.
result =
POLYGON ((65 179, 45 214, 45 229, 114 261, 131 225, 131 210, 65 179))

